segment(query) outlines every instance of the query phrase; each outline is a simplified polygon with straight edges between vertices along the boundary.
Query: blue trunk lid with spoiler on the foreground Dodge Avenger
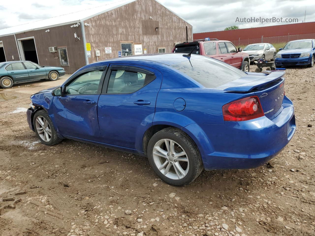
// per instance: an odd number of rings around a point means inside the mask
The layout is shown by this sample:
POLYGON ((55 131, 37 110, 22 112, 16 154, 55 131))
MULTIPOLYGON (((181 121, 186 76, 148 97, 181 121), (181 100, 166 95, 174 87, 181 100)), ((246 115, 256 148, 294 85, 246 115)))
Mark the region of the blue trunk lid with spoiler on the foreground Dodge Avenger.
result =
POLYGON ((258 96, 265 116, 273 119, 282 110, 284 97, 283 71, 274 71, 270 74, 248 73, 248 76, 239 78, 222 86, 224 90, 239 93, 254 92, 258 96))

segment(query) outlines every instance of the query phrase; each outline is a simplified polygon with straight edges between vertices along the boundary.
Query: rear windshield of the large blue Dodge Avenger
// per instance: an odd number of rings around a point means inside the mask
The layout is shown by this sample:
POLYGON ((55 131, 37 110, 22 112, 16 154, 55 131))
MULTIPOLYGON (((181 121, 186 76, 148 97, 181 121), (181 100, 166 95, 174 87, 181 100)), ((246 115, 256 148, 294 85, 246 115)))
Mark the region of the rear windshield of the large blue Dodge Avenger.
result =
POLYGON ((217 59, 201 57, 171 65, 206 88, 216 88, 247 74, 217 59))

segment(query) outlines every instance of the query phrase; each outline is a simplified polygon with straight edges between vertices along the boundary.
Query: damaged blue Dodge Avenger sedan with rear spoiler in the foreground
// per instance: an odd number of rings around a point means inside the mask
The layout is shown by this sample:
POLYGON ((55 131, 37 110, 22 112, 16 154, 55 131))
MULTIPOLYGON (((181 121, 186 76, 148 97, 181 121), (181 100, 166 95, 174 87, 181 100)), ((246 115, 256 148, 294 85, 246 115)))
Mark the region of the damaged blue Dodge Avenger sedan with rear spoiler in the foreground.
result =
POLYGON ((43 144, 69 138, 147 156, 182 186, 203 169, 254 168, 281 152, 295 132, 283 76, 194 54, 109 59, 32 95, 27 121, 43 144))

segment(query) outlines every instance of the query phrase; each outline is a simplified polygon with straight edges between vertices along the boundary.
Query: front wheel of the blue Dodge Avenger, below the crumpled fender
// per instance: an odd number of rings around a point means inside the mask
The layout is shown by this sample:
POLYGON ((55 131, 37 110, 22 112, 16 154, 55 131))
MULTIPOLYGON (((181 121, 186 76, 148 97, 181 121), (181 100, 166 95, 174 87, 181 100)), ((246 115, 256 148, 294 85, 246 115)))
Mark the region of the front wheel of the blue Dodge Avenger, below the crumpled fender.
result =
POLYGON ((49 115, 47 114, 45 110, 39 110, 35 113, 33 117, 33 124, 34 124, 35 133, 37 137, 39 138, 39 140, 41 141, 41 143, 48 146, 52 146, 56 143, 59 143, 62 140, 61 138, 58 138, 53 122, 51 121, 49 115), (43 123, 41 124, 39 120, 43 121, 43 123), (44 129, 43 129, 43 126, 45 127, 44 129), (46 136, 46 133, 48 134, 48 136, 46 136))

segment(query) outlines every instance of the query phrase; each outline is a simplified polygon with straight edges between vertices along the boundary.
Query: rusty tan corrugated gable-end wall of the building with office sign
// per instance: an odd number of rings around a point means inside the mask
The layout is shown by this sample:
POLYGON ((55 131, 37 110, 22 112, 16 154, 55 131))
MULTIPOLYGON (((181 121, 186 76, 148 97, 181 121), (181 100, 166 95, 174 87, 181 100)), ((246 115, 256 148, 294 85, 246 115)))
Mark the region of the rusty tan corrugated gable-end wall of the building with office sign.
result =
POLYGON ((91 43, 91 58, 100 50, 98 60, 117 57, 122 42, 141 43, 147 53, 157 53, 158 48, 171 52, 174 42, 192 40, 192 25, 154 0, 137 0, 84 21, 86 42, 91 43), (152 17, 152 19, 150 19, 152 17), (158 32, 156 31, 158 27, 158 32), (111 47, 112 53, 105 53, 111 47))

